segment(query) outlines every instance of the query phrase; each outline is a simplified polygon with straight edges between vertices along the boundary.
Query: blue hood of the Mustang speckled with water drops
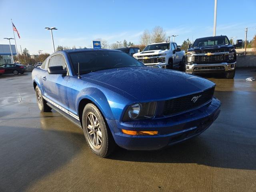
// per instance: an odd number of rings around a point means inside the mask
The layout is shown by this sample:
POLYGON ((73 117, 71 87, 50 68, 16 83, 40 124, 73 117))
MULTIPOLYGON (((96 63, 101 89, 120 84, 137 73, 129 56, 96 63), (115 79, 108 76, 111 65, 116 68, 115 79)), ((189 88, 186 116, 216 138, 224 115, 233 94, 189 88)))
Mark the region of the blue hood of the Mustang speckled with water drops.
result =
POLYGON ((168 69, 125 67, 82 75, 97 84, 108 84, 132 95, 140 102, 167 100, 200 92, 215 84, 204 78, 168 69))

